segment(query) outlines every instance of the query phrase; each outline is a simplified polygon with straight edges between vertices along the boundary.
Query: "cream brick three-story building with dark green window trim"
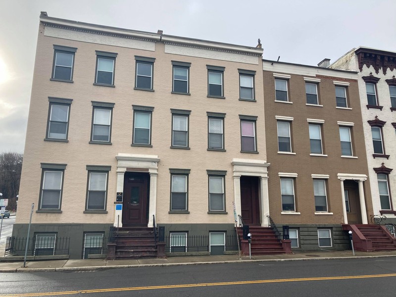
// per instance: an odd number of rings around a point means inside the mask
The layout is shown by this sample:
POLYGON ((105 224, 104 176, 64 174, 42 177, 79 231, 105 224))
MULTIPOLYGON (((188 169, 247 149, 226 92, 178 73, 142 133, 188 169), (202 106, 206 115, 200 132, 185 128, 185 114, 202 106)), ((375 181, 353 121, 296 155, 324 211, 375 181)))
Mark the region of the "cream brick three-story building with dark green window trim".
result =
POLYGON ((13 236, 235 234, 269 214, 262 49, 40 16, 13 236), (249 195, 249 200, 242 198, 249 195), (242 197, 242 198, 241 198, 242 197))

